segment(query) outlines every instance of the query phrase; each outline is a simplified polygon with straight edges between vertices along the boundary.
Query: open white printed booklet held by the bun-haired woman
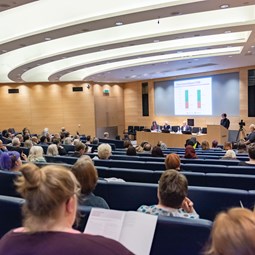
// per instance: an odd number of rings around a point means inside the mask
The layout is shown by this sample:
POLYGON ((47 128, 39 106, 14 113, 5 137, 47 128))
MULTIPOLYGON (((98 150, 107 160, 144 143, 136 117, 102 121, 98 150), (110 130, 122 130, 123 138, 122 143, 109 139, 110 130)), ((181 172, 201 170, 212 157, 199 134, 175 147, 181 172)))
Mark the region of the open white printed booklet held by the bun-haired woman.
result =
POLYGON ((157 216, 92 208, 84 233, 119 241, 136 255, 149 255, 157 216))

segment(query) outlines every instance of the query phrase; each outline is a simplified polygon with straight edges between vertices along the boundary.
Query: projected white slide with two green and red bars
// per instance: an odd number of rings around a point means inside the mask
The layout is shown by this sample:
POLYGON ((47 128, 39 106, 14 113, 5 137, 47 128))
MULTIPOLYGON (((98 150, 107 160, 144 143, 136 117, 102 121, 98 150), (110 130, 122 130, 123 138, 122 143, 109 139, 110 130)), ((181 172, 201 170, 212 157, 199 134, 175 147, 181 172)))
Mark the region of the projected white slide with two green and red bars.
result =
POLYGON ((212 115, 212 78, 174 82, 175 115, 212 115))

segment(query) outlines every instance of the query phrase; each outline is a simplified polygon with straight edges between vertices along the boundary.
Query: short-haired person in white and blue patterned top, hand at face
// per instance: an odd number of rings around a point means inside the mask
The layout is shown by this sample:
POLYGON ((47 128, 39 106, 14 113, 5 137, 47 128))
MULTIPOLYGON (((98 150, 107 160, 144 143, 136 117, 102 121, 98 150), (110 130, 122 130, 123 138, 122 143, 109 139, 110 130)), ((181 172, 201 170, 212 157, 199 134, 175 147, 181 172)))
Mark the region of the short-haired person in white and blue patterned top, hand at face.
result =
POLYGON ((199 218, 192 201, 187 198, 188 181, 176 170, 166 170, 160 177, 158 186, 158 204, 142 205, 139 212, 174 216, 182 218, 199 218))

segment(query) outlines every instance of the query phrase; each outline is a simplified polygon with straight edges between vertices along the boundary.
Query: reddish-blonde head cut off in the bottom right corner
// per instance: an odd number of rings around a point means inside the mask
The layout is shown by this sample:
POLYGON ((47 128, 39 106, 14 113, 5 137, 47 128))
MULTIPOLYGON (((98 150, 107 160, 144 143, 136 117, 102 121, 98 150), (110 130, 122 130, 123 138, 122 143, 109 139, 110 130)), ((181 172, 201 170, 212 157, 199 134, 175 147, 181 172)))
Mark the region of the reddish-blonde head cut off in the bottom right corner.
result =
POLYGON ((232 208, 216 216, 204 255, 255 254, 255 213, 232 208))

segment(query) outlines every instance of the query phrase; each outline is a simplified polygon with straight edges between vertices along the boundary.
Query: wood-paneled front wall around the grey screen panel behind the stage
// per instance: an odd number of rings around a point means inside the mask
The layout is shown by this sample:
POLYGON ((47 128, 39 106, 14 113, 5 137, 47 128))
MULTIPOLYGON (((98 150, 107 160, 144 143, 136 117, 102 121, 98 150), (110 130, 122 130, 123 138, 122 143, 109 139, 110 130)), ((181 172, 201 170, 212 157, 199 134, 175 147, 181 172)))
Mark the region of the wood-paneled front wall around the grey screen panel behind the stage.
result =
MULTIPOLYGON (((230 70, 222 70, 217 72, 208 72, 208 73, 200 73, 196 75, 186 75, 179 77, 171 77, 160 80, 175 80, 181 78, 190 78, 190 77, 198 77, 198 76, 208 76, 215 75, 221 73, 231 73, 231 72, 239 72, 240 79, 240 115, 239 116, 229 116, 231 125, 230 129, 238 130, 241 119, 246 122, 246 129, 248 130, 248 126, 252 123, 255 123, 255 118, 248 117, 248 70, 254 69, 255 67, 246 67, 246 68, 238 68, 238 69, 230 69, 230 70)), ((157 81, 160 81, 157 80, 157 81)), ((177 116, 156 116, 154 114, 154 81, 148 81, 149 85, 149 116, 142 116, 142 82, 145 81, 137 81, 132 83, 125 84, 124 90, 124 108, 125 108, 125 126, 128 125, 141 125, 150 127, 153 120, 156 120, 159 124, 163 125, 165 121, 168 121, 171 125, 181 125, 186 118, 177 117, 177 116)), ((162 98, 162 100, 164 100, 162 98)), ((254 106, 255 107, 255 106, 254 106)), ((194 117, 195 125, 198 127, 206 127, 208 124, 219 124, 221 116, 213 116, 213 117, 194 117)))

